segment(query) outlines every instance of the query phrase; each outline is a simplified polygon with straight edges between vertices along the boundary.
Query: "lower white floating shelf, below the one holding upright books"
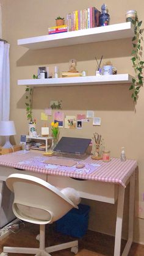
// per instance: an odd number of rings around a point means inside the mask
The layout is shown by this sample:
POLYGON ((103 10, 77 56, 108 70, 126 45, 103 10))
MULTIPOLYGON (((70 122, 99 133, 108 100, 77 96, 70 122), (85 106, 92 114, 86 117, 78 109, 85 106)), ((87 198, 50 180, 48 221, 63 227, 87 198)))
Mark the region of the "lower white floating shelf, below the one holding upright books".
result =
POLYGON ((19 79, 18 86, 85 86, 98 84, 129 84, 132 76, 129 74, 107 76, 79 76, 74 78, 19 79))

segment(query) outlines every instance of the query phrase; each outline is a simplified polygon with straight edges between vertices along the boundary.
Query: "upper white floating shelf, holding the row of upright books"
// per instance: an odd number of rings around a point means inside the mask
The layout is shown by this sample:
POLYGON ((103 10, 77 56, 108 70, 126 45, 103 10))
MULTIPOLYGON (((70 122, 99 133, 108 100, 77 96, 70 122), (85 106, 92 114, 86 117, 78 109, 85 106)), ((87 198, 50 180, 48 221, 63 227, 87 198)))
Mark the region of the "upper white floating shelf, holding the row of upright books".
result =
POLYGON ((29 49, 42 49, 129 38, 133 37, 133 35, 134 27, 132 26, 132 23, 125 22, 54 35, 41 35, 38 37, 18 39, 18 45, 29 49))

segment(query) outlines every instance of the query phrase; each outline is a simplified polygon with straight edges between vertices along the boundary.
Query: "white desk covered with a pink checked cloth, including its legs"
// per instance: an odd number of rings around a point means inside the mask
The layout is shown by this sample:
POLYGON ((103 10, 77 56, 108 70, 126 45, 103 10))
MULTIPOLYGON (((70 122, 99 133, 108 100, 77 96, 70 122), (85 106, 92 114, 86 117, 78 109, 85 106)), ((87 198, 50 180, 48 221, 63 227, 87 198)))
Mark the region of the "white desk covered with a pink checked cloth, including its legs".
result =
MULTIPOLYGON (((87 164, 98 163, 99 167, 96 167, 97 169, 91 174, 87 174, 78 172, 77 170, 68 170, 65 166, 56 166, 51 169, 51 166, 41 163, 41 157, 44 158, 41 156, 41 153, 37 152, 29 152, 26 155, 10 153, 8 155, 0 156, 0 207, 2 181, 12 173, 35 175, 43 178, 43 180, 47 180, 49 183, 60 189, 68 186, 75 188, 79 191, 82 198, 99 200, 107 203, 115 203, 118 199, 115 249, 113 255, 120 256, 124 192, 126 186, 130 183, 128 242, 126 243, 122 256, 128 255, 133 238, 135 168, 137 167, 137 161, 126 160, 125 162, 121 162, 120 159, 113 158, 109 163, 104 163, 101 160, 95 161, 88 157, 87 159, 82 160, 82 163, 85 163, 85 166, 87 164), (16 170, 13 168, 20 168, 23 170, 16 170), (71 178, 79 178, 83 180, 74 180, 71 178)), ((48 159, 48 157, 45 157, 44 159, 48 159)))

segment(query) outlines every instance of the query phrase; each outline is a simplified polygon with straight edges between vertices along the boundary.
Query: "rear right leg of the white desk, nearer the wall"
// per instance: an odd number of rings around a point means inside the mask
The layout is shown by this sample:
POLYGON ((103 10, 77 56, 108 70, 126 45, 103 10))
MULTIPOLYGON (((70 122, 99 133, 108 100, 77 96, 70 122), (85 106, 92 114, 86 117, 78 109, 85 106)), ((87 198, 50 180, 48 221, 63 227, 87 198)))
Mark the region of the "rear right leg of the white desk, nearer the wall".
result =
POLYGON ((128 241, 124 247, 123 254, 121 256, 127 256, 131 248, 134 231, 134 196, 135 196, 135 172, 130 178, 129 188, 129 230, 128 230, 128 241))

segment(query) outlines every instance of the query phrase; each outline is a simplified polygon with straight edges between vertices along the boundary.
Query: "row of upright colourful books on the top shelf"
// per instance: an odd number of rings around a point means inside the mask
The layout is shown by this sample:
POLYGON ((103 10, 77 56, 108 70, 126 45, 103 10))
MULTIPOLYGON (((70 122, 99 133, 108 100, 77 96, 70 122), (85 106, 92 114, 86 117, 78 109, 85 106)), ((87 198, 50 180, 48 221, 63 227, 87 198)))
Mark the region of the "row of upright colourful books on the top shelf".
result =
POLYGON ((89 7, 84 10, 74 10, 67 14, 68 31, 89 29, 99 26, 99 12, 96 7, 89 7))

